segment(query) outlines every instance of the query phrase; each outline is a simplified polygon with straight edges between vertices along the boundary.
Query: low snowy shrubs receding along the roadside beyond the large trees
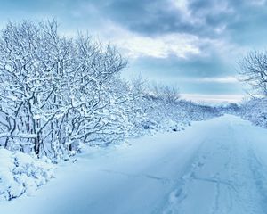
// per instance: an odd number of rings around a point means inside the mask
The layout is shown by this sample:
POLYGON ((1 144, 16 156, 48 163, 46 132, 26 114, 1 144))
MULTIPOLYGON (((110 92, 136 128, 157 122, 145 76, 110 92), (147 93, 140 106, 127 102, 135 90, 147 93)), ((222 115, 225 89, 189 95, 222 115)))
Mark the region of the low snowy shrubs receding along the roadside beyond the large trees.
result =
POLYGON ((184 100, 169 102, 152 95, 144 95, 137 105, 142 112, 142 117, 138 115, 134 117, 135 133, 139 134, 150 130, 179 131, 190 126, 191 121, 211 119, 222 115, 210 106, 184 100))

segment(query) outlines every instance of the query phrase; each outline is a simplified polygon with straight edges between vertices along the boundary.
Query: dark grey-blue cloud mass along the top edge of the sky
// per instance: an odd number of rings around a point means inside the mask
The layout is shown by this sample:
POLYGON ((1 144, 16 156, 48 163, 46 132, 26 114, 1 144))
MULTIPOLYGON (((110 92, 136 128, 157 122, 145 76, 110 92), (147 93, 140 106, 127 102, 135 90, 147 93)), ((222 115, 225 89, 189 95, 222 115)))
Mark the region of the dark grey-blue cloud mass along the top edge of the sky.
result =
POLYGON ((107 19, 125 29, 155 36, 190 33, 205 37, 220 35, 235 12, 227 1, 108 0, 93 4, 107 19))

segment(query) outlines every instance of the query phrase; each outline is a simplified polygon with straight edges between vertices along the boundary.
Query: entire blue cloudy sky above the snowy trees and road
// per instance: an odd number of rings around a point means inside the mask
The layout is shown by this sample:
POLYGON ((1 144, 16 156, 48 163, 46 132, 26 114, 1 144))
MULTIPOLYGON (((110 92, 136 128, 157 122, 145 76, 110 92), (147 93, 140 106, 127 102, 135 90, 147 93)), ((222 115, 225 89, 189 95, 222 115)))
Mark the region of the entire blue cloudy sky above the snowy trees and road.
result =
POLYGON ((264 50, 265 0, 0 0, 0 27, 7 21, 60 22, 117 45, 129 59, 125 78, 177 84, 184 97, 239 101, 237 61, 264 50))

